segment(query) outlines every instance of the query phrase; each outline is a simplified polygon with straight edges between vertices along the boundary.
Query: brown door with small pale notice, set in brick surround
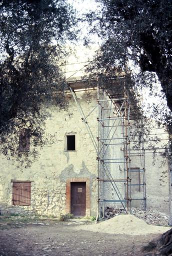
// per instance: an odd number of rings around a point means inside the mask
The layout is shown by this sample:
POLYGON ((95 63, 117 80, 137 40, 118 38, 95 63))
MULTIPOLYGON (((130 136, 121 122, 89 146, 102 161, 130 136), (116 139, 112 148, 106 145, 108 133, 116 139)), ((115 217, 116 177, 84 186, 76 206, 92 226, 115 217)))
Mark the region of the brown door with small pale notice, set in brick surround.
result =
POLYGON ((86 182, 71 182, 71 213, 85 216, 86 182))

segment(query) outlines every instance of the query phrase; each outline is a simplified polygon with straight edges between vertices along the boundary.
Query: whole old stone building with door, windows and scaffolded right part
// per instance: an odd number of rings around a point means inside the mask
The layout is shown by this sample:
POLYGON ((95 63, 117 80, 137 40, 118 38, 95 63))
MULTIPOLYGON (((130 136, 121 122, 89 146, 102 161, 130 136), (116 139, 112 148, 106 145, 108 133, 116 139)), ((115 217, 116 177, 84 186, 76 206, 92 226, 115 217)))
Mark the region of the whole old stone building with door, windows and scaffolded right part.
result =
MULTIPOLYGON (((105 108, 100 106, 100 101, 97 105, 97 88, 84 89, 81 81, 70 82, 70 86, 75 94, 66 92, 68 110, 57 112, 53 107, 51 117, 46 121, 46 130, 56 134, 55 140, 40 149, 40 156, 31 167, 18 169, 0 156, 1 213, 96 216, 98 212, 102 215, 108 205, 127 210, 131 201, 131 206, 170 214, 167 160, 164 161, 160 153, 153 158, 148 152, 144 154, 144 163, 140 160, 141 153, 134 155, 130 152, 131 156, 126 157, 124 144, 127 141, 123 139, 127 136, 121 134, 123 123, 114 125, 114 119, 121 121, 123 118, 119 115, 122 104, 113 102, 111 106, 109 95, 102 98, 104 92, 99 92, 99 100, 106 101, 107 110, 103 112, 105 108), (108 116, 109 108, 112 118, 108 116), (102 122, 103 129, 100 127, 102 122), (103 139, 111 141, 108 148, 103 139), (95 147, 100 151, 101 145, 104 146, 101 152, 96 152, 95 147), (126 168, 131 170, 129 174, 126 168), (142 177, 144 170, 146 175, 142 177)), ((161 134, 164 139, 167 137, 163 129, 152 133, 161 134)), ((27 143, 23 150, 29 150, 27 143)))

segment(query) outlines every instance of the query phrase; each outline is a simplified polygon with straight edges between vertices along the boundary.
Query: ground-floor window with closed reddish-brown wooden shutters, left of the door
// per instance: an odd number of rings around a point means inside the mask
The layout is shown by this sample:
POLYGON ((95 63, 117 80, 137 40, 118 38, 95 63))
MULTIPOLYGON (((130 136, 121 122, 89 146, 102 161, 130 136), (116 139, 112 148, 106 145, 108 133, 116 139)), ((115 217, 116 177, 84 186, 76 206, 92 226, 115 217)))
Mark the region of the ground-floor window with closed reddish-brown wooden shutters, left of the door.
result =
POLYGON ((16 181, 12 183, 12 204, 30 205, 31 200, 31 182, 16 181))

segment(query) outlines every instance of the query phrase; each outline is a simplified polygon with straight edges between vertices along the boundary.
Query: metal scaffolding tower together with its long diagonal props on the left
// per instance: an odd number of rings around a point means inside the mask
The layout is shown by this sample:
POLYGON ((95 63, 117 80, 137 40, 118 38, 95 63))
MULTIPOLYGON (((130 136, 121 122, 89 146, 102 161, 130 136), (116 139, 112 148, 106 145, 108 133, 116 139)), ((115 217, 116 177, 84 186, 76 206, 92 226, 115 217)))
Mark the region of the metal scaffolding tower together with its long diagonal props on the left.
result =
MULTIPOLYGON (((130 172, 134 172, 136 170, 130 168, 130 103, 128 94, 124 88, 123 93, 116 97, 116 95, 110 94, 108 90, 97 86, 97 106, 95 106, 90 113, 85 116, 82 107, 77 100, 75 90, 70 86, 69 90, 77 105, 81 119, 86 126, 87 132, 97 154, 99 216, 104 216, 105 207, 107 205, 117 205, 118 207, 122 206, 124 211, 128 213, 131 208, 130 187, 132 185, 136 185, 131 183, 130 178, 130 172), (89 126, 87 117, 96 108, 98 135, 95 138, 89 126), (118 136, 117 134, 121 135, 118 136), (120 149, 119 157, 115 154, 117 149, 120 149), (118 176, 116 176, 116 168, 120 171, 118 176), (113 195, 110 197, 108 197, 109 186, 111 187, 111 194, 113 195)), ((142 162, 144 163, 144 160, 142 162)), ((139 169, 139 171, 145 173, 145 168, 143 167, 142 169, 139 169)), ((141 185, 142 184, 140 183, 139 186, 141 185)))

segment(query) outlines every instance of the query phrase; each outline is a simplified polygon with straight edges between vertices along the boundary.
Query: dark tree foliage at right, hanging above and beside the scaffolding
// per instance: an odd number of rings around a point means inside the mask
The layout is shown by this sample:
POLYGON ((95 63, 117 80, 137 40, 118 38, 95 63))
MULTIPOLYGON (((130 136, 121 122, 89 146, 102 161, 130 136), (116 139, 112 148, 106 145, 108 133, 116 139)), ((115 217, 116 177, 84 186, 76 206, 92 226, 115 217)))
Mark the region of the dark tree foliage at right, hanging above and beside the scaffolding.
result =
MULTIPOLYGON (((91 32, 101 38, 101 47, 96 52, 88 71, 99 84, 108 84, 119 74, 130 75, 125 79, 126 89, 131 95, 135 119, 144 120, 140 115, 142 106, 140 89, 148 87, 151 95, 165 99, 165 104, 153 104, 153 117, 164 124, 172 133, 172 30, 171 0, 97 0, 100 11, 87 14, 91 32), (161 91, 153 84, 160 82, 161 91), (137 105, 137 106, 136 106, 137 105), (139 117, 140 116, 140 117, 139 117)), ((111 87, 117 93, 121 86, 111 87)), ((148 111, 147 111, 148 112, 148 111)), ((140 127, 140 123, 136 124, 140 127)), ((148 133, 146 131, 146 133, 148 133)), ((169 146, 167 146, 169 147, 169 146)), ((172 148, 172 146, 170 146, 172 148)), ((166 154, 168 154, 168 150, 166 154)))

